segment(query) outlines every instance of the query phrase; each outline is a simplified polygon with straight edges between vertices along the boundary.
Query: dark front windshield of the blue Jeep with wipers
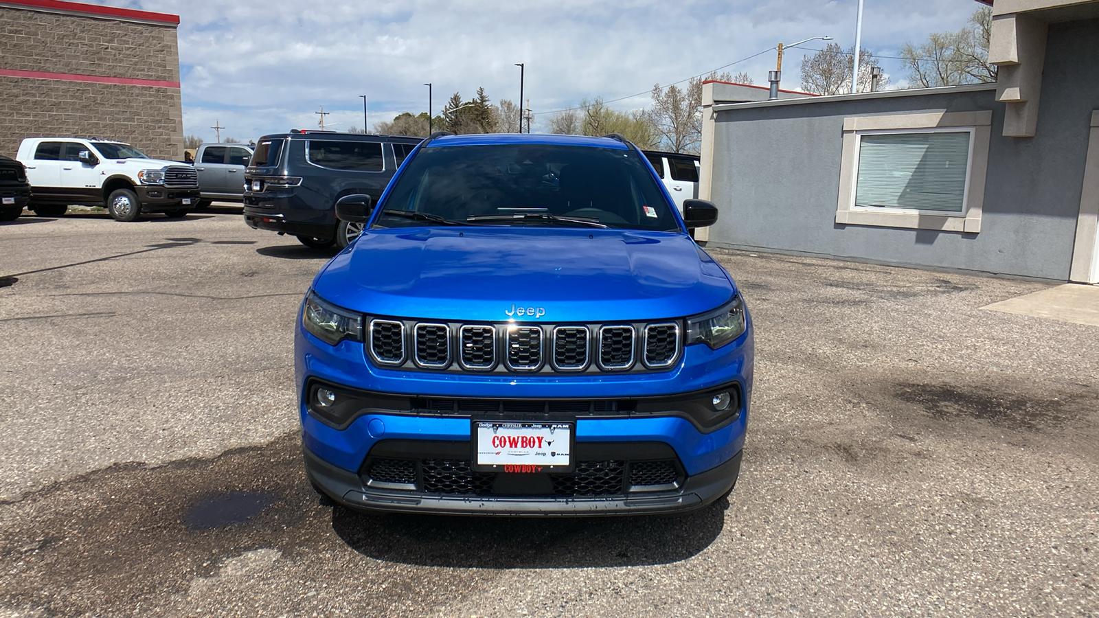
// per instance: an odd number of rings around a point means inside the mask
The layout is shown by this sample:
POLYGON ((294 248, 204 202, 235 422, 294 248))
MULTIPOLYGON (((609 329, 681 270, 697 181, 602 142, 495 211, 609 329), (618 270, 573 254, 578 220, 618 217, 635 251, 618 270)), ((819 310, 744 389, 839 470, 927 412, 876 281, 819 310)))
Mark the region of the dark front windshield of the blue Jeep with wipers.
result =
POLYGON ((680 231, 635 151, 563 144, 421 150, 374 227, 447 222, 680 231))

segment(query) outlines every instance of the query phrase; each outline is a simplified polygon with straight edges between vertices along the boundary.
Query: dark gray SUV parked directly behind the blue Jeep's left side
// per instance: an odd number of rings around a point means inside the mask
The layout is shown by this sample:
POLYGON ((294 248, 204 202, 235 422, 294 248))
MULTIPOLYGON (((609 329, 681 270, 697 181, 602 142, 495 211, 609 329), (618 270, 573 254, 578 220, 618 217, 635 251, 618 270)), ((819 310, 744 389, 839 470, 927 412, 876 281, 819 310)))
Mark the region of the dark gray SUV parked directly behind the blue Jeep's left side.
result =
POLYGON ((347 246, 362 224, 337 221, 336 200, 354 194, 380 198, 421 141, 332 131, 264 135, 244 172, 244 221, 295 235, 306 246, 347 246))

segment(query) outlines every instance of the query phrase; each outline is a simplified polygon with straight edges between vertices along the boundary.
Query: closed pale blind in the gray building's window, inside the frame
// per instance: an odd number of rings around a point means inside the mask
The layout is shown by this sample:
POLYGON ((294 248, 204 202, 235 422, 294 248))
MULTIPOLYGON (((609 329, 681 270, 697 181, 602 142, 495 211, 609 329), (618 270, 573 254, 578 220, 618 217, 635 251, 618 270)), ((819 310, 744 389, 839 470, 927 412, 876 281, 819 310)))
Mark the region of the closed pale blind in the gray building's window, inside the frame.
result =
POLYGON ((855 206, 962 212, 969 132, 861 135, 855 206))

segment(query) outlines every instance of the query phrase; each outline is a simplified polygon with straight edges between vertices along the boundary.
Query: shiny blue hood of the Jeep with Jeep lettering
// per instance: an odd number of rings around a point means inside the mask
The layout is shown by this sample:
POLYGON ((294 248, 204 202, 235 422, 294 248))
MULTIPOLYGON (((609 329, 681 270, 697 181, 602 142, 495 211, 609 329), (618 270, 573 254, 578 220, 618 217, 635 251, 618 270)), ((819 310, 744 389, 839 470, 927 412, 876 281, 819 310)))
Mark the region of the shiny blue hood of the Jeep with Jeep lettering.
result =
POLYGON ((735 293, 686 234, 595 228, 368 230, 313 287, 373 316, 546 323, 680 318, 735 293))

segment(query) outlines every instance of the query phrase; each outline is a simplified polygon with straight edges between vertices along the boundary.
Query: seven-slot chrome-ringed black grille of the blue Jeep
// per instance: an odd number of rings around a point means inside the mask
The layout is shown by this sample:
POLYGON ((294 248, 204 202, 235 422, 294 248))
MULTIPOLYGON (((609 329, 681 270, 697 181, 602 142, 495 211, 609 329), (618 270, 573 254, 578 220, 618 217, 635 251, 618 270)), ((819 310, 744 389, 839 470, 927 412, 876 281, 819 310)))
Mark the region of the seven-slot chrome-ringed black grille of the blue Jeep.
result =
POLYGON ((678 322, 610 325, 369 321, 370 358, 382 366, 482 372, 626 372, 675 365, 678 322), (598 367, 598 368, 597 368, 598 367))

